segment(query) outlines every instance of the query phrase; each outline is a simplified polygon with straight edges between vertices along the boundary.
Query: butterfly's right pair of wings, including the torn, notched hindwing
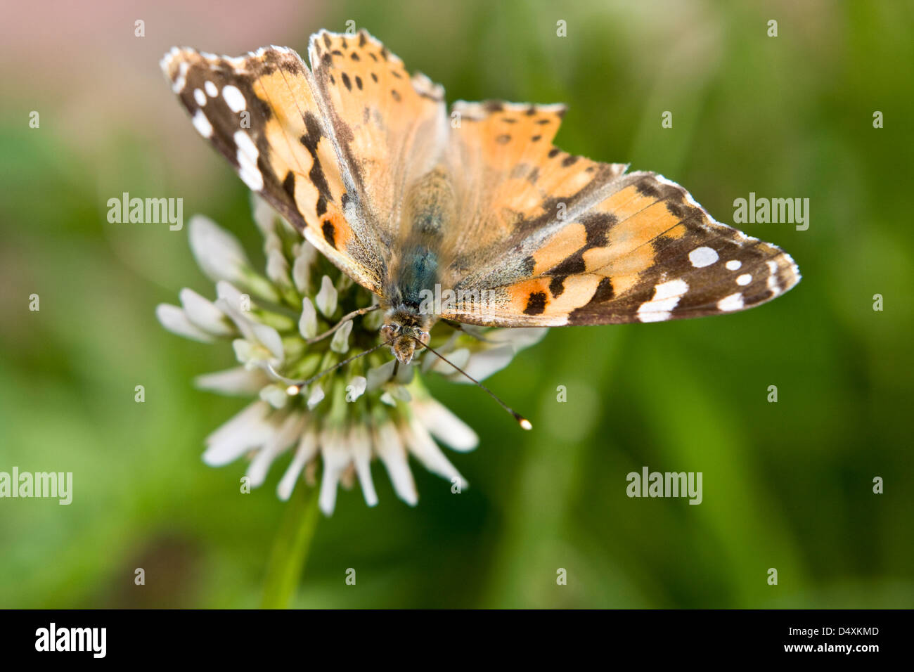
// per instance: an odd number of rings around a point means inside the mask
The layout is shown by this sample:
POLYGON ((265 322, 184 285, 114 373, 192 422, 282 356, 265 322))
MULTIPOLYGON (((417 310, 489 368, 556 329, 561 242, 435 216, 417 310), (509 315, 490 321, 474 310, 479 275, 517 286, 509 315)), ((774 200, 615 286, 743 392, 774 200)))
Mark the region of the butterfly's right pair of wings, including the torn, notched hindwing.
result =
POLYGON ((626 175, 625 165, 551 145, 556 108, 455 110, 469 129, 452 133, 451 156, 471 157, 485 178, 458 187, 473 206, 452 236, 456 304, 442 317, 502 326, 658 322, 749 308, 800 280, 788 254, 718 223, 663 176, 626 175), (540 127, 548 136, 535 133, 540 127))

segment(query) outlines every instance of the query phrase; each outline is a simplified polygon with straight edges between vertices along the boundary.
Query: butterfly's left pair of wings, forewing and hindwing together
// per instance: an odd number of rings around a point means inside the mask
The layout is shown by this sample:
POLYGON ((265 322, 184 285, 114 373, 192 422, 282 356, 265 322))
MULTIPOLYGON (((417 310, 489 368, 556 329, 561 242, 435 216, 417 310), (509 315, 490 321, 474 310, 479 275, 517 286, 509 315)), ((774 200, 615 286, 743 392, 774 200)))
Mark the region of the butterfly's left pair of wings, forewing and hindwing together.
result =
POLYGON ((174 48, 162 67, 197 131, 343 272, 382 294, 409 180, 438 161, 443 91, 375 38, 321 31, 228 58, 174 48))

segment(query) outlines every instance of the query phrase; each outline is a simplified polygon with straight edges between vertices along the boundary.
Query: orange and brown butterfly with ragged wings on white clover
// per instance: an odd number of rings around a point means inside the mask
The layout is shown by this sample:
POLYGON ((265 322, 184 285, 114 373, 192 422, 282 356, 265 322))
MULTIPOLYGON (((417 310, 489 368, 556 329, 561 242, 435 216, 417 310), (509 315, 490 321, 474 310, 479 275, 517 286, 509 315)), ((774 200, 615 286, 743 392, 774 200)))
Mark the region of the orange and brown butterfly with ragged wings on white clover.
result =
POLYGON ((162 68, 244 183, 377 295, 401 363, 439 319, 660 322, 750 308, 800 280, 790 255, 675 182, 552 144, 564 105, 449 112, 441 85, 365 30, 316 33, 308 59, 173 48, 162 68))

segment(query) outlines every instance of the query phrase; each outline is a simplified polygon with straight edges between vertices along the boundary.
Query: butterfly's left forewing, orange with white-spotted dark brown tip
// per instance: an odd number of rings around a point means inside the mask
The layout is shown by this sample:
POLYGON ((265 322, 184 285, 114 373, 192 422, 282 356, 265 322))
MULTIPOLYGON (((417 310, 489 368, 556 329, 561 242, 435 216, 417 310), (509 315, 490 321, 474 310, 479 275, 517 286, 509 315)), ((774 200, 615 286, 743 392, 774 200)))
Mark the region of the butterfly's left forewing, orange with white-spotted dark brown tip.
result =
POLYGON ((298 54, 269 47, 228 58, 175 48, 162 67, 197 131, 245 184, 357 283, 379 291, 377 232, 344 215, 343 170, 298 54))

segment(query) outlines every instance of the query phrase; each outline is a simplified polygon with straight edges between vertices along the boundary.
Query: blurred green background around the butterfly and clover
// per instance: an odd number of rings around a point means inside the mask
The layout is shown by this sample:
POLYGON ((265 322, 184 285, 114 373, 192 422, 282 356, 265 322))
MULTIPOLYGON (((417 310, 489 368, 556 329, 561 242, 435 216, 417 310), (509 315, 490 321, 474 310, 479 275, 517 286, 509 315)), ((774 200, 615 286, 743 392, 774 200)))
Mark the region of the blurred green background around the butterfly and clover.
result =
POLYGON ((0 606, 260 603, 285 460, 250 495, 243 460, 201 462, 204 437, 246 402, 192 379, 233 357, 166 333, 154 308, 212 284, 186 228, 109 224, 106 201, 183 197, 185 219, 216 219, 259 265, 247 189, 158 59, 173 44, 304 51, 350 19, 449 101, 567 102, 562 148, 661 172, 721 221, 749 192, 808 197, 811 217, 805 231, 742 227, 802 271, 772 304, 550 331, 488 381, 534 432, 480 390, 429 379, 481 436, 449 453, 472 486, 453 496, 414 464, 410 508, 374 464, 379 506, 341 494, 293 604, 914 605, 910 2, 74 5, 7 7, 0 45, 0 471, 74 475, 69 507, 0 500, 0 606), (627 497, 644 465, 702 472, 703 503, 627 497))

